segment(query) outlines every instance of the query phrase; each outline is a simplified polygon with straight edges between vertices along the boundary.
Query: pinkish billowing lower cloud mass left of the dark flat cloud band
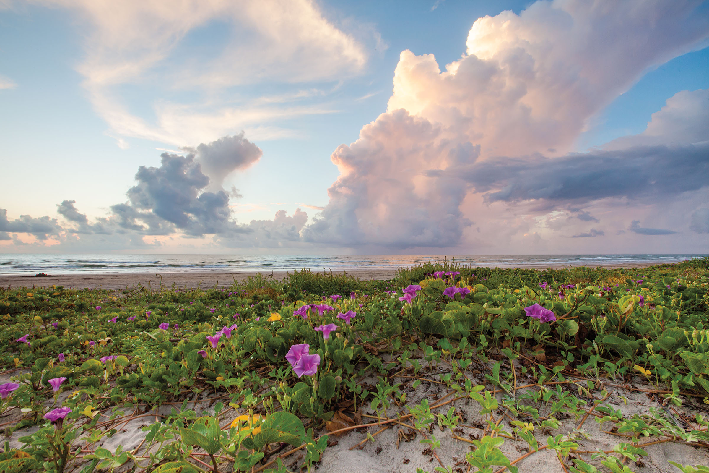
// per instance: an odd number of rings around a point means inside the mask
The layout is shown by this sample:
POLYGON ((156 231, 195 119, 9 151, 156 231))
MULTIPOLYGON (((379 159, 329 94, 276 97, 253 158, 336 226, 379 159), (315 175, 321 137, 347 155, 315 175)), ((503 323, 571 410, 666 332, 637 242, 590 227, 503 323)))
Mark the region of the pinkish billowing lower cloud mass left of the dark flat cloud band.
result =
POLYGON ((471 222, 459 204, 466 184, 438 169, 475 160, 479 148, 452 143, 440 127, 404 110, 384 113, 330 160, 340 177, 303 238, 347 246, 441 247, 471 222))

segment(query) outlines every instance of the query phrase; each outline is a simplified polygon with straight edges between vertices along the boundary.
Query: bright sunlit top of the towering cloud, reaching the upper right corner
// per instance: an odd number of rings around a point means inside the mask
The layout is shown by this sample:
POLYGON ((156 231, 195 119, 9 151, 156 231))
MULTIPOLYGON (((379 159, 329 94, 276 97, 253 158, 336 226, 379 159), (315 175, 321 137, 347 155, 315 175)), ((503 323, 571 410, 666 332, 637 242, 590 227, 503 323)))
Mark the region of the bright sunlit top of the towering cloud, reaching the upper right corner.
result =
POLYGON ((563 155, 588 120, 654 65, 709 36, 698 1, 537 1, 472 26, 462 59, 403 51, 387 111, 440 123, 481 157, 563 155), (642 6, 641 6, 642 5, 642 6))

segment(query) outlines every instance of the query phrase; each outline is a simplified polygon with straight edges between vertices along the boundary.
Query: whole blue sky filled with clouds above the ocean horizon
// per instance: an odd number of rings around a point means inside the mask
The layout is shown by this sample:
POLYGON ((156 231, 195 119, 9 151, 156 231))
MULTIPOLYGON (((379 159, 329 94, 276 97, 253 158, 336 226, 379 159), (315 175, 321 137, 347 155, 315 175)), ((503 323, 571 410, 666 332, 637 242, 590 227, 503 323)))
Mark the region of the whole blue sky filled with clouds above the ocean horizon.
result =
POLYGON ((0 0, 0 252, 709 253, 709 1, 0 0))

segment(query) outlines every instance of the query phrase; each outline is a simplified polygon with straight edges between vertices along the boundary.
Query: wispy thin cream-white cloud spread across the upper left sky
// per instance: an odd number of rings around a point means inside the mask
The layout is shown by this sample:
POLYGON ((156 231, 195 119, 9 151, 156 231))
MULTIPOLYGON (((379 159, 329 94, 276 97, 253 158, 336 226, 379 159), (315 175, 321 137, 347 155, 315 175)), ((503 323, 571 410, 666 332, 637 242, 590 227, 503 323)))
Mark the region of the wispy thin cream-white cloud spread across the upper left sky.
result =
MULTIPOLYGON (((38 3, 70 9, 81 19, 86 55, 77 69, 94 108, 119 140, 132 136, 186 145, 238 130, 247 130, 252 138, 292 133, 264 128, 257 134, 254 128, 330 110, 250 104, 229 89, 347 79, 367 64, 364 43, 376 41, 376 35, 359 38, 359 33, 345 32, 310 0, 38 3), (214 39, 204 42, 206 34, 214 39), (154 123, 131 111, 125 84, 170 91, 150 101, 154 123), (184 92, 194 99, 181 100, 184 92)), ((376 31, 367 35, 372 33, 376 31)))

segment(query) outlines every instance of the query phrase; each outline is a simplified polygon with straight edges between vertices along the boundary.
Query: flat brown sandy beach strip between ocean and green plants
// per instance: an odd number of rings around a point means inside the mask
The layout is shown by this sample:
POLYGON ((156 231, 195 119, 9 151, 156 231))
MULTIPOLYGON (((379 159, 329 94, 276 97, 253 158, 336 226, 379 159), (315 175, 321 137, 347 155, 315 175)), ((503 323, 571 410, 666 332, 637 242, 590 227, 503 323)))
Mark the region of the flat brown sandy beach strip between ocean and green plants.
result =
MULTIPOLYGON (((660 265, 663 263, 659 263, 660 265)), ((631 269, 658 266, 657 262, 637 263, 634 265, 596 265, 586 266, 597 269, 631 269)), ((502 269, 569 269, 574 267, 584 267, 584 265, 520 265, 501 267, 502 269)), ((350 271, 333 271, 333 274, 348 274, 359 279, 392 279, 398 268, 372 268, 372 269, 352 269, 350 271)), ((274 279, 284 279, 292 271, 260 272, 264 277, 274 277, 274 279)), ((48 274, 44 277, 34 275, 0 274, 0 286, 12 287, 48 287, 52 285, 65 286, 67 288, 91 288, 91 289, 113 289, 120 290, 127 287, 143 284, 159 288, 162 286, 194 289, 200 287, 228 287, 234 281, 244 281, 248 277, 259 274, 259 271, 239 271, 239 272, 125 272, 125 273, 91 273, 91 274, 48 274)))

